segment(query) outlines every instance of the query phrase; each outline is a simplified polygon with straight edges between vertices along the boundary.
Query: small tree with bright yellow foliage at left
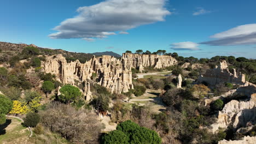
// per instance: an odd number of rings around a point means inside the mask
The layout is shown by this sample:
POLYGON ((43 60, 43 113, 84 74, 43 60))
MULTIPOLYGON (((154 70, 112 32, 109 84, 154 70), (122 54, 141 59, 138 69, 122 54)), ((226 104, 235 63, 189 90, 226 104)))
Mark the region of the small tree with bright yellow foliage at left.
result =
POLYGON ((28 108, 26 103, 21 103, 19 100, 13 101, 13 109, 9 112, 10 114, 26 114, 31 110, 28 108))

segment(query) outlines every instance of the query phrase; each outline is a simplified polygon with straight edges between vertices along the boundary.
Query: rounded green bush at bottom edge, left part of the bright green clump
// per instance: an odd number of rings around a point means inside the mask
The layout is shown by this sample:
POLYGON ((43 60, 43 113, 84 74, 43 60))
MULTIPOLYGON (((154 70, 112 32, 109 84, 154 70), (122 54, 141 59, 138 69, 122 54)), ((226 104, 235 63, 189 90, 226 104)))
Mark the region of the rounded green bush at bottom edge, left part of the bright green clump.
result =
POLYGON ((129 137, 120 130, 110 131, 108 134, 102 136, 102 143, 104 144, 129 144, 129 137))

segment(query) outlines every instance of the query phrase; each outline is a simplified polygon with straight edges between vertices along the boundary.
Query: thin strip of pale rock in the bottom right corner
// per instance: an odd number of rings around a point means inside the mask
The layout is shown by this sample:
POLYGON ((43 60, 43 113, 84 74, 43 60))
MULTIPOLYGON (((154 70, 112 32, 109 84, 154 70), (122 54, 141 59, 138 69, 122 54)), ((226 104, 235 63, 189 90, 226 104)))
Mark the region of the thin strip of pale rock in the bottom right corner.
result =
POLYGON ((219 141, 218 144, 255 144, 256 143, 256 136, 245 136, 242 140, 236 140, 236 141, 227 141, 222 140, 219 141))

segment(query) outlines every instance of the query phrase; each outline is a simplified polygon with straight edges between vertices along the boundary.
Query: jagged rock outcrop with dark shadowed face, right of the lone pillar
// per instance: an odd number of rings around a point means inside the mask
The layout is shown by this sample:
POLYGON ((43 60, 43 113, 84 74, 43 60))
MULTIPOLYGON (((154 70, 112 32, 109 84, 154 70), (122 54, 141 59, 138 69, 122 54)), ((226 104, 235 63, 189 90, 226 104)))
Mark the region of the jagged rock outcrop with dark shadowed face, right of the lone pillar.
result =
POLYGON ((228 65, 226 64, 226 61, 220 62, 218 67, 215 69, 208 69, 206 70, 206 73, 199 76, 199 79, 197 81, 199 82, 207 82, 211 86, 217 85, 218 83, 222 82, 230 82, 230 83, 236 83, 238 85, 244 85, 245 84, 245 75, 239 74, 237 75, 236 70, 234 69, 235 73, 232 74, 229 72, 228 65))

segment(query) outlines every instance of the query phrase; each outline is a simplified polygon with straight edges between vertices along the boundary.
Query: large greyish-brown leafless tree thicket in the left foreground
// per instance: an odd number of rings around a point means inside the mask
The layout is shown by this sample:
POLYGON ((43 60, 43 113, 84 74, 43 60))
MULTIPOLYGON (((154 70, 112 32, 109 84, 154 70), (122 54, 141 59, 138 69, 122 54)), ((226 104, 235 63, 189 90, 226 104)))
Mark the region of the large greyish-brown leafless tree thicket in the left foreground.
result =
POLYGON ((61 134, 74 143, 98 143, 103 125, 95 113, 88 110, 75 110, 70 105, 51 104, 40 113, 42 123, 51 131, 61 134))

